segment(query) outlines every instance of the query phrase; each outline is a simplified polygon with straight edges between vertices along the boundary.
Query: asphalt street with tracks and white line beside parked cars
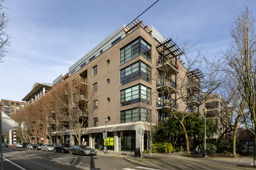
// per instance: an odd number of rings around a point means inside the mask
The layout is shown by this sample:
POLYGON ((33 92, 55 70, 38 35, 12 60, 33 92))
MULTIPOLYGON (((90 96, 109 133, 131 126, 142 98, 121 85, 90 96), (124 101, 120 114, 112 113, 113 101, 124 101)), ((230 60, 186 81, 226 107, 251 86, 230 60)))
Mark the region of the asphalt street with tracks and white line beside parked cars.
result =
POLYGON ((3 157, 4 170, 154 170, 117 157, 80 156, 12 147, 3 148, 3 157))

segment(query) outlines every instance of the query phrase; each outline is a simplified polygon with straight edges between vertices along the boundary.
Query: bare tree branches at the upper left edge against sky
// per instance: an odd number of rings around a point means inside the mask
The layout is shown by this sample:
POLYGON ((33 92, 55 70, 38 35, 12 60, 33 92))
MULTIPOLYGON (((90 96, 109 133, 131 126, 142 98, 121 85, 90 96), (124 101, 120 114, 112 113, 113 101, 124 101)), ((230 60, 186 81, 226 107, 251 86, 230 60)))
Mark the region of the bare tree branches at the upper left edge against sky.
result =
MULTIPOLYGON (((0 10, 2 10, 4 7, 2 3, 5 2, 4 0, 0 0, 0 10)), ((7 28, 7 22, 8 18, 6 18, 6 15, 4 11, 2 12, 2 15, 0 17, 0 62, 3 62, 2 59, 6 56, 6 46, 10 46, 11 42, 9 39, 11 38, 7 33, 6 33, 6 28, 7 28)))

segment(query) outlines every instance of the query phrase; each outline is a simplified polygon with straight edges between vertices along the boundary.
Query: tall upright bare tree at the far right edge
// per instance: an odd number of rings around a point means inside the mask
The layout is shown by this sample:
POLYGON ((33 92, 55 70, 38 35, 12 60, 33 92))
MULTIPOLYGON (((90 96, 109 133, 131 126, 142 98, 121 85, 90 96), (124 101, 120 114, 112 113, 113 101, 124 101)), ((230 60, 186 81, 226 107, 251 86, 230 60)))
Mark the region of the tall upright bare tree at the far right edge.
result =
MULTIPOLYGON (((223 52, 228 64, 228 73, 237 79, 237 89, 246 101, 252 120, 254 143, 256 143, 256 20, 246 7, 245 11, 235 18, 230 26, 232 40, 228 49, 223 52)), ((256 167, 256 147, 254 147, 254 167, 256 167)))

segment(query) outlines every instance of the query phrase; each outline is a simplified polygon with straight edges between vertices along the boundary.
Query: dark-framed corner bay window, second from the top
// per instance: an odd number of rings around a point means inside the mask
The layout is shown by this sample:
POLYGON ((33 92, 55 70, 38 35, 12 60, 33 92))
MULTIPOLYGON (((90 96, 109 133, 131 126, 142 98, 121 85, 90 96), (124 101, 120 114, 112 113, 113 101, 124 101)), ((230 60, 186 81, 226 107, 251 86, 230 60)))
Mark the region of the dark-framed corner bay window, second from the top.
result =
POLYGON ((137 79, 143 79, 150 83, 151 68, 142 61, 135 62, 120 70, 121 86, 137 79))

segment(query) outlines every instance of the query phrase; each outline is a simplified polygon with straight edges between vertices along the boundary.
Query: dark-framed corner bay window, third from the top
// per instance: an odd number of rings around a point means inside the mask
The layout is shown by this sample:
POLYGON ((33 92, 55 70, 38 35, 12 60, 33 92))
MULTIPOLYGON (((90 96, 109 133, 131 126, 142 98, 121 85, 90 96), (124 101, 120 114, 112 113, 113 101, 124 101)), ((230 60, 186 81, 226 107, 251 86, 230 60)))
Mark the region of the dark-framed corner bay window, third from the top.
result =
POLYGON ((137 102, 149 102, 150 93, 151 89, 143 86, 142 84, 138 84, 136 86, 124 89, 121 91, 120 95, 121 106, 126 106, 137 102))

